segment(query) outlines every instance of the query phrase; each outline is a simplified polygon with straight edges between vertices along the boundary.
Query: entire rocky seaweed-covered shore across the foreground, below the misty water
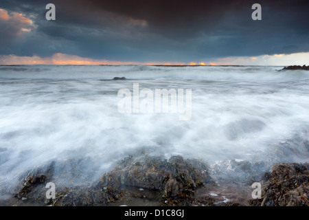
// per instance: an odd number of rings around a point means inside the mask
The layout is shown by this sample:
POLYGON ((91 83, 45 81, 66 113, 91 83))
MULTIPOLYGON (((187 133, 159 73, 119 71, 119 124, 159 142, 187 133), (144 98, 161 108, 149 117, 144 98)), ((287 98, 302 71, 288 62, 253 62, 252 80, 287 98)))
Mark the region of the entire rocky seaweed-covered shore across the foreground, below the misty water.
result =
POLYGON ((91 158, 54 161, 23 173, 1 206, 308 206, 309 164, 201 159, 169 159, 142 153, 119 161, 113 170, 91 182, 96 170, 82 173, 91 158), (60 170, 60 171, 59 171, 60 170), (83 184, 76 185, 77 180, 83 184), (47 182, 56 184, 56 198, 47 199, 47 182), (252 199, 253 182, 262 184, 262 198, 252 199), (71 185, 70 185, 71 183, 71 185), (75 184, 73 184, 75 183, 75 184))

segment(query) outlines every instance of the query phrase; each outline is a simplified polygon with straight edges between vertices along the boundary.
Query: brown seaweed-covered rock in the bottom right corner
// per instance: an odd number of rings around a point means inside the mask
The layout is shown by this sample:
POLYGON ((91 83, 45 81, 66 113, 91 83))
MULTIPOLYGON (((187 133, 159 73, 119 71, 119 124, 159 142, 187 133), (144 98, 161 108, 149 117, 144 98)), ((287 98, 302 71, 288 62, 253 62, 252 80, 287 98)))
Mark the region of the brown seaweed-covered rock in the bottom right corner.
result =
POLYGON ((267 177, 262 199, 251 206, 309 206, 309 164, 275 164, 267 177))

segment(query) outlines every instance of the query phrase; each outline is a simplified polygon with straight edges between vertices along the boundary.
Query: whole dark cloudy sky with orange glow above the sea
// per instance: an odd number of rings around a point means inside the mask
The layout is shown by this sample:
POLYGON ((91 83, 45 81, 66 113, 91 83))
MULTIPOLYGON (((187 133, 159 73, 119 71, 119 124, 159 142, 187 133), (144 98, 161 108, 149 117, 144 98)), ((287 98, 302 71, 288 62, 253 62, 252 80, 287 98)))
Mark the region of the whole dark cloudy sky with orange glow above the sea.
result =
POLYGON ((1 0, 0 64, 309 65, 308 10, 308 0, 1 0))

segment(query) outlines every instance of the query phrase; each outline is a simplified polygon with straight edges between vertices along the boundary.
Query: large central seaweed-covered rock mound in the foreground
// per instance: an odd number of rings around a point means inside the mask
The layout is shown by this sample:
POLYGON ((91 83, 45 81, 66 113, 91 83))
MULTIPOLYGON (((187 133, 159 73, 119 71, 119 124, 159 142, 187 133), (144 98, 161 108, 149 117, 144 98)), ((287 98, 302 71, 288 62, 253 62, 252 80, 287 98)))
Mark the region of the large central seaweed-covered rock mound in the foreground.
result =
POLYGON ((124 159, 114 170, 101 178, 102 185, 113 188, 134 186, 159 190, 164 198, 185 201, 194 195, 194 190, 211 181, 207 166, 201 161, 190 164, 181 156, 170 159, 142 157, 124 159), (198 166, 197 166, 198 165, 198 166))

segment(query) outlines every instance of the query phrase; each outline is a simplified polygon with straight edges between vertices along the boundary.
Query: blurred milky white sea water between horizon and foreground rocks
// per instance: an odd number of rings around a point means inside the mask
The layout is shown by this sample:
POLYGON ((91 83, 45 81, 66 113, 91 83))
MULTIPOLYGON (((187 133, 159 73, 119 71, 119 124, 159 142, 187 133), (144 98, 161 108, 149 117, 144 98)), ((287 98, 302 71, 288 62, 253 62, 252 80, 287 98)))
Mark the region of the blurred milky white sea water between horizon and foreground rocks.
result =
MULTIPOLYGON (((211 163, 250 159, 299 133, 306 142, 309 72, 277 69, 0 66, 0 181, 53 159, 91 157, 105 172, 141 151, 211 163), (120 113, 118 91, 133 91, 133 83, 150 91, 192 89, 190 120, 178 113, 120 113)), ((308 162, 308 152, 293 160, 308 162)))

